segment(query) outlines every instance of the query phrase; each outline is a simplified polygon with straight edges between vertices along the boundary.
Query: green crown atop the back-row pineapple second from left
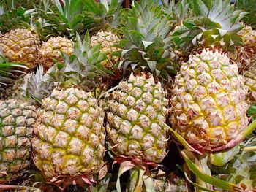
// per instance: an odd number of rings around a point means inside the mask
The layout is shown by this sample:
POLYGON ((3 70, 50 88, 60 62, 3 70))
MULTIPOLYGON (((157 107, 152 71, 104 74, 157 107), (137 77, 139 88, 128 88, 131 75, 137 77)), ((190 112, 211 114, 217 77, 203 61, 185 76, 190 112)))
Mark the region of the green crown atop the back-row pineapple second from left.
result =
POLYGON ((75 37, 76 33, 85 33, 85 1, 45 0, 40 7, 39 17, 45 34, 75 37))

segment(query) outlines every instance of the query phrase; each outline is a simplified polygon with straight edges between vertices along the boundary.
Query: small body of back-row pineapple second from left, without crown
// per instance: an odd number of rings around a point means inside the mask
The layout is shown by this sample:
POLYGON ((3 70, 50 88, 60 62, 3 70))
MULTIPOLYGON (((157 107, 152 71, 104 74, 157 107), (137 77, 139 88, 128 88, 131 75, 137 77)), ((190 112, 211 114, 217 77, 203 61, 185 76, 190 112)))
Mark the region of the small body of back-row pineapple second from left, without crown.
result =
POLYGON ((46 70, 55 64, 54 60, 63 63, 61 52, 66 55, 72 55, 73 42, 67 37, 50 37, 47 42, 42 42, 39 49, 39 61, 46 70))

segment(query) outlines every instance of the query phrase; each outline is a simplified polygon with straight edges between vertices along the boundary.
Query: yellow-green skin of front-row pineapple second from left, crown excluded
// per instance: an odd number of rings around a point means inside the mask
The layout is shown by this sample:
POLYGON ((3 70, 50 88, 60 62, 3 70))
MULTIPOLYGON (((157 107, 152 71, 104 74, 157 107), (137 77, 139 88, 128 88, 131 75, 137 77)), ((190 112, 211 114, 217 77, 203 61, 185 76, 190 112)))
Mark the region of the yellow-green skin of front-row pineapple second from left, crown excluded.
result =
POLYGON ((105 113, 78 88, 53 90, 42 100, 32 138, 34 164, 45 180, 97 173, 105 154, 105 113))

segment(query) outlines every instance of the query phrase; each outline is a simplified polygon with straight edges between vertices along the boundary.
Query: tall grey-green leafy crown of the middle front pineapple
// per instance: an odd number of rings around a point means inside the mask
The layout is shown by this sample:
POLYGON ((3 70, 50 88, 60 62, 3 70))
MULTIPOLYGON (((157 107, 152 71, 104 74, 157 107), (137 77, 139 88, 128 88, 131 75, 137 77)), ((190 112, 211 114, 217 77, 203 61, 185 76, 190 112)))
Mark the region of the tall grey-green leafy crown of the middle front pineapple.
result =
POLYGON ((124 72, 151 72, 160 80, 169 81, 174 72, 171 50, 170 20, 164 16, 162 7, 154 0, 133 1, 130 12, 124 12, 124 39, 119 47, 123 50, 119 68, 124 72))

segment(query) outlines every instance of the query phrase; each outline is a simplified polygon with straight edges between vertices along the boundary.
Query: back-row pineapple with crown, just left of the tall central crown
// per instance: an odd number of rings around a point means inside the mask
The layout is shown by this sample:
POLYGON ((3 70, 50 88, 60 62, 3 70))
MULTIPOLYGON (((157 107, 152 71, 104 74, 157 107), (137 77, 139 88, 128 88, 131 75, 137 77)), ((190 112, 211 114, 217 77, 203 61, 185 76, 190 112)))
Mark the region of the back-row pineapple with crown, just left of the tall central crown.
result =
POLYGON ((121 2, 111 1, 110 4, 105 4, 100 1, 89 0, 85 3, 87 7, 90 7, 90 9, 87 9, 87 20, 91 21, 88 28, 94 34, 91 37, 91 46, 102 45, 101 51, 108 57, 102 64, 106 68, 113 70, 118 76, 118 70, 113 69, 113 66, 120 61, 120 57, 113 53, 121 50, 116 46, 120 42, 120 38, 115 33, 115 29, 118 28, 118 16, 122 12, 121 2), (90 6, 91 4, 93 6, 90 6))

